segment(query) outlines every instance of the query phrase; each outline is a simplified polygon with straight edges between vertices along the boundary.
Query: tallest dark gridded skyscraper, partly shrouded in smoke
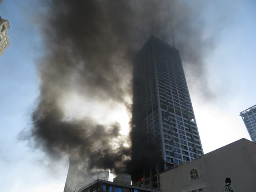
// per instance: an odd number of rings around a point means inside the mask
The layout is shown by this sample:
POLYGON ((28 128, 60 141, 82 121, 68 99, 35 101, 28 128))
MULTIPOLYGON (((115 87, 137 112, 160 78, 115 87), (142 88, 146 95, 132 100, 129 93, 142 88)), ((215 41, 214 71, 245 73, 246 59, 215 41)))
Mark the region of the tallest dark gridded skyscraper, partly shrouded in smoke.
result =
POLYGON ((133 110, 140 117, 133 123, 161 159, 138 184, 160 188, 160 172, 203 154, 179 51, 151 36, 136 55, 134 79, 133 110))

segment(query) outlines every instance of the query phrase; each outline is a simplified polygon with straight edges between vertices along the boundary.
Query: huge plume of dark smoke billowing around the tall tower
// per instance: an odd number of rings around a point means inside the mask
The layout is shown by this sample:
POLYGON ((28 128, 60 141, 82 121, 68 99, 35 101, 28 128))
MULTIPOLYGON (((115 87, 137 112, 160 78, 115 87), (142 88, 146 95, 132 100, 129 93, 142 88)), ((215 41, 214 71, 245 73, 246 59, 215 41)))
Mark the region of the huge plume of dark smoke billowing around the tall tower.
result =
POLYGON ((134 53, 151 35, 171 44, 170 23, 183 63, 193 65, 193 77, 203 78, 202 53, 213 42, 202 38, 202 18, 179 0, 170 1, 170 15, 166 0, 48 0, 41 6, 38 28, 45 54, 38 62, 41 85, 31 141, 54 158, 76 156, 89 169, 119 174, 127 172, 127 164, 129 173, 136 172, 130 158, 138 160, 136 168, 142 156, 152 158, 150 147, 132 153, 146 137, 135 130, 132 147, 125 147, 120 125, 65 117, 62 97, 77 93, 84 99, 124 103, 131 110, 124 98, 132 97, 134 53), (119 143, 113 148, 115 139, 119 143))

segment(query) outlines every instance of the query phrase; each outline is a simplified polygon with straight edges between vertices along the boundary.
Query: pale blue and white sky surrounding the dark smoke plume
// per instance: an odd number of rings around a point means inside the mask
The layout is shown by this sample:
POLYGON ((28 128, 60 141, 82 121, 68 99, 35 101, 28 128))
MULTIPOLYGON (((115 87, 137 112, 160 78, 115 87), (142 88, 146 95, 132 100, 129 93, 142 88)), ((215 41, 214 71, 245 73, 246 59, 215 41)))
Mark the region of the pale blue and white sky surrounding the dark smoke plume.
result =
MULTIPOLYGON (((32 0, 4 0, 0 4, 1 16, 9 20, 11 27, 8 30, 11 46, 0 57, 1 190, 62 192, 68 157, 54 163, 40 150, 18 140, 19 133, 31 126, 30 115, 39 95, 36 60, 42 55, 43 40, 34 24, 34 6, 37 4, 32 0)), ((254 0, 220 0, 198 13, 204 15, 206 35, 214 33, 212 29, 219 30, 216 47, 204 59, 206 80, 216 97, 202 99, 202 92, 190 81, 191 70, 184 68, 204 153, 241 138, 250 140, 239 113, 256 104, 255 10, 254 0), (212 26, 218 25, 216 20, 220 27, 212 26), (223 26, 222 20, 228 20, 227 25, 223 26)), ((85 101, 75 98, 66 104, 68 109, 71 108, 68 105, 73 106, 69 111, 72 115, 76 115, 76 111, 83 113, 80 106, 85 105, 85 101)), ((111 121, 117 119, 127 129, 127 115, 122 106, 116 108, 122 112, 111 112, 111 121), (120 114, 124 115, 120 117, 120 114)))

